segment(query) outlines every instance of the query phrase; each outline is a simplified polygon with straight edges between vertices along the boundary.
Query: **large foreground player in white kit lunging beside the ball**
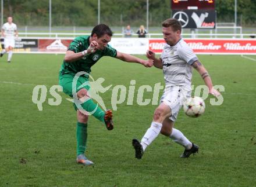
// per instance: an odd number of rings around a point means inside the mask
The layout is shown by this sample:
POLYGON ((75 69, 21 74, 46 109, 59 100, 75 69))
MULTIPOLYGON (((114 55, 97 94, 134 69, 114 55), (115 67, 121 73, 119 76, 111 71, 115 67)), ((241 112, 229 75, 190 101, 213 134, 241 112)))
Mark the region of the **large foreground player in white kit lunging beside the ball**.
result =
POLYGON ((190 142, 181 131, 173 128, 183 101, 191 96, 192 67, 202 76, 209 93, 215 97, 220 95, 214 89, 207 70, 181 38, 181 31, 182 26, 178 20, 171 18, 163 21, 162 32, 166 43, 161 57, 155 57, 155 53, 151 51, 146 54, 154 61, 156 68, 163 69, 165 91, 161 98, 161 104, 155 109, 151 126, 141 142, 137 139, 132 141, 137 159, 141 159, 147 146, 157 138, 159 133, 184 146, 185 150, 180 157, 189 157, 192 153, 198 152, 198 145, 190 142))

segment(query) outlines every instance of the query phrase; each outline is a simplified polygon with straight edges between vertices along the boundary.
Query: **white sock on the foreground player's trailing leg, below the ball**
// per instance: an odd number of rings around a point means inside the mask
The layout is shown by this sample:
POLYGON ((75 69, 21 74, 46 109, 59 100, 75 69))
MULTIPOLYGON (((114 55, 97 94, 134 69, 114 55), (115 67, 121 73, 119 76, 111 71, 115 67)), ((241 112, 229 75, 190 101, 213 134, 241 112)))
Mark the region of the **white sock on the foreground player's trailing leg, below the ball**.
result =
POLYGON ((170 134, 170 139, 172 139, 177 144, 184 146, 185 149, 190 149, 192 146, 192 143, 189 140, 187 140, 184 134, 181 131, 174 128, 172 128, 172 134, 170 134))

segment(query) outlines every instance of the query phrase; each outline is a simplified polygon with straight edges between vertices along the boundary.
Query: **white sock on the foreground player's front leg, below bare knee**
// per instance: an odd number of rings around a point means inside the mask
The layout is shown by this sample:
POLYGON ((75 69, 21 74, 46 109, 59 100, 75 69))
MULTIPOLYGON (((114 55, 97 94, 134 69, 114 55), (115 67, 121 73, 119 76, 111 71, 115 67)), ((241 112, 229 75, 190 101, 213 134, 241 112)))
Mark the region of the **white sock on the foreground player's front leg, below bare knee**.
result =
POLYGON ((144 134, 144 137, 141 140, 141 145, 143 147, 143 151, 147 148, 148 145, 152 143, 152 141, 157 138, 158 134, 162 129, 162 124, 158 122, 152 122, 150 128, 144 134))

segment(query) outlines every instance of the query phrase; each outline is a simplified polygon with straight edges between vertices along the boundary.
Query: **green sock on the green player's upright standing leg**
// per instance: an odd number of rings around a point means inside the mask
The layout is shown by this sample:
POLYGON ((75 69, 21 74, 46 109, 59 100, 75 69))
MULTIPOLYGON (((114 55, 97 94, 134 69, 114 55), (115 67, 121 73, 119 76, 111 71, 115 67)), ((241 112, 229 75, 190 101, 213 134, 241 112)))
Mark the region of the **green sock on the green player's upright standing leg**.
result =
POLYGON ((87 123, 77 122, 76 125, 76 155, 84 154, 87 142, 87 123))

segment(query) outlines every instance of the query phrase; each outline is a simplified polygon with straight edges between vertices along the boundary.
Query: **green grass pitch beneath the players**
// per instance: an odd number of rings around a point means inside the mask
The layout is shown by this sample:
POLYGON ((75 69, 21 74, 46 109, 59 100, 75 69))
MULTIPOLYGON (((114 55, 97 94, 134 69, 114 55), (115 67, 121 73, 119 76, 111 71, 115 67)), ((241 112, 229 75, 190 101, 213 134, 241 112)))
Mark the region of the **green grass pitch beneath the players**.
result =
MULTIPOLYGON (((140 56, 145 58, 144 56, 140 56)), ((131 139, 139 140, 151 124, 156 105, 126 102, 114 111, 115 129, 90 117, 86 155, 94 167, 76 159, 76 113, 61 93, 51 106, 52 85, 58 85, 63 55, 14 54, 0 59, 0 186, 253 186, 256 183, 256 63, 241 56, 198 56, 214 85, 225 86, 221 106, 205 100, 200 118, 181 110, 176 128, 200 145, 200 152, 180 159, 183 148, 159 135, 143 159, 134 158, 131 139), (31 98, 36 85, 47 86, 47 100, 38 111, 31 98)), ((193 85, 203 85, 194 71, 193 85)), ((94 79, 104 86, 154 86, 162 71, 103 57, 94 65, 94 79)), ((101 94, 111 108, 112 91, 101 94)), ((136 94, 135 94, 136 95, 136 94)), ((144 94, 152 98, 152 93, 144 94)), ((126 98, 127 101, 127 98, 126 98)))

